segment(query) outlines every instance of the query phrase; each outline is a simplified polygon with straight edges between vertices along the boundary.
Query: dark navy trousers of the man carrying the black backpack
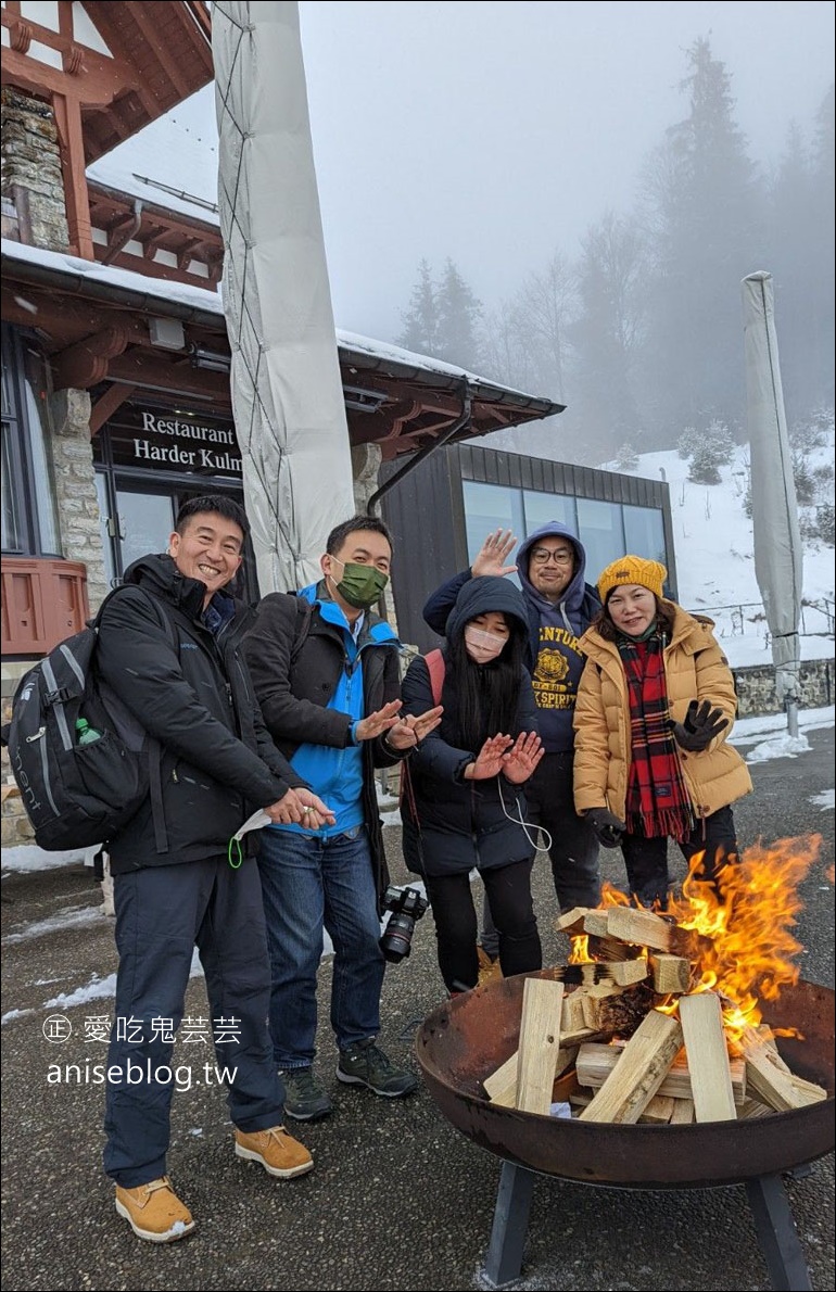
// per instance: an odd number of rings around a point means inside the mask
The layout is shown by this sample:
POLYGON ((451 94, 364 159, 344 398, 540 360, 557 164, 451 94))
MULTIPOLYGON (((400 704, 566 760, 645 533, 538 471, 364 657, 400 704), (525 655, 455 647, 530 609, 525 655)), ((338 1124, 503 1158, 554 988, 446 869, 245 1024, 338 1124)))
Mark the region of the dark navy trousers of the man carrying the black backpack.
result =
POLYGON ((255 859, 236 871, 225 857, 149 866, 116 875, 114 888, 119 973, 107 1054, 105 1171, 134 1189, 165 1174, 174 1085, 187 1089, 217 1079, 203 1068, 212 1041, 240 1130, 279 1125, 284 1090, 267 1032, 270 960, 255 859), (187 1019, 174 1041, 195 946, 209 1017, 187 1019))

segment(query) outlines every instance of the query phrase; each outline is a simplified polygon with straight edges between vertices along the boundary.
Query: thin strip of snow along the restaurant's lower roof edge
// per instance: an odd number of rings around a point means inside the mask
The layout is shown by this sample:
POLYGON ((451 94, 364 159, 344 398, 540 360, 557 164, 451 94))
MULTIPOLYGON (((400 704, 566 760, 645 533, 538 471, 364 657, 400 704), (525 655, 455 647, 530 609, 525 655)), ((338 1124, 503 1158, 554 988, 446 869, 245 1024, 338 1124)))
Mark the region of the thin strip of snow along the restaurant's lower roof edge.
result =
MULTIPOLYGON (((123 291, 136 292, 143 297, 169 302, 174 301, 195 310, 208 310, 218 317, 224 314, 224 301, 220 292, 213 292, 207 287, 194 287, 191 283, 177 283, 167 278, 150 278, 147 274, 137 274, 132 269, 121 269, 116 265, 99 265, 94 260, 81 260, 79 256, 70 256, 66 252, 48 251, 45 247, 28 247, 25 243, 10 240, 4 242, 3 255, 10 260, 23 261, 30 265, 43 265, 67 276, 83 275, 90 283, 105 283, 115 289, 121 288, 123 291)), ((344 349, 355 354, 367 354, 381 359, 384 363, 399 363, 437 373, 438 376, 466 377, 473 384, 518 394, 522 399, 532 398, 525 391, 510 390, 509 386, 488 381, 474 372, 468 372, 466 368, 459 368, 452 363, 444 363, 442 359, 433 359, 425 354, 413 354, 411 350, 402 350, 397 345, 375 341, 371 337, 359 336, 357 332, 344 332, 341 328, 337 328, 336 336, 337 345, 344 349)))

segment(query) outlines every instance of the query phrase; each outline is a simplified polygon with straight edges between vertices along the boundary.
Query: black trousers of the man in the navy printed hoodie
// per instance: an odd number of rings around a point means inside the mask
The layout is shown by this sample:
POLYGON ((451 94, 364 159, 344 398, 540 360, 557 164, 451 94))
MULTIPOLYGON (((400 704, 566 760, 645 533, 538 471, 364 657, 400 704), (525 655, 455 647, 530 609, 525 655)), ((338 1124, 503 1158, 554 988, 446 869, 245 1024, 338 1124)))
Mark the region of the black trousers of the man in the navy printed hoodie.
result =
MULTIPOLYGON (((527 820, 532 826, 543 826, 552 836, 552 879, 563 912, 574 906, 597 907, 601 901, 598 840, 589 822, 575 811, 574 761, 571 749, 545 753, 535 774, 522 787, 528 805, 527 820)), ((499 947, 487 899, 482 915, 482 946, 496 957, 499 947)))

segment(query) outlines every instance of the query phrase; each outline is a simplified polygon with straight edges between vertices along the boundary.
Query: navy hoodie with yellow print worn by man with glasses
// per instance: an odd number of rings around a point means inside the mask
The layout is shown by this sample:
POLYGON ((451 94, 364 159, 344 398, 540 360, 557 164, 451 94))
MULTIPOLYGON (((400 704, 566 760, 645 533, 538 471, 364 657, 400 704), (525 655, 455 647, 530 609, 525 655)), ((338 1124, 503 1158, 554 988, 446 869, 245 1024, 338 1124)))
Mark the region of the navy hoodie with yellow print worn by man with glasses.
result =
MULTIPOLYGON (((572 713, 578 682, 584 667, 579 638, 601 609, 594 588, 584 580, 587 553, 583 544, 559 521, 549 521, 521 544, 517 553, 517 572, 528 616, 528 667, 534 695, 538 703, 540 736, 547 753, 558 753, 574 747, 572 713), (567 539, 576 554, 572 581, 559 602, 547 601, 528 579, 528 553, 543 539, 567 539)), ((439 636, 444 636, 447 616, 456 603, 460 589, 472 579, 470 570, 463 570, 438 588, 424 606, 424 620, 439 636)))

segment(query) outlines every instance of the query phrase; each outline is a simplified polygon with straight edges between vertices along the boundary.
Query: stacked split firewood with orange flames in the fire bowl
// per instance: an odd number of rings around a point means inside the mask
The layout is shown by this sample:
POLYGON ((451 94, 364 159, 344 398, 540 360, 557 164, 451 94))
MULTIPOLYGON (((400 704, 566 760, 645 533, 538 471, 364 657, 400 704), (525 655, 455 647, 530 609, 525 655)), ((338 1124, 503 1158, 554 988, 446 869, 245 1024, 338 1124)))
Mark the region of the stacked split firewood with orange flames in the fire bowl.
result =
MULTIPOLYGON (((628 906, 610 890, 612 904, 561 916, 572 963, 548 977, 567 988, 559 1053, 580 1047, 559 1078, 562 1102, 569 1097, 584 1120, 682 1125, 769 1116, 828 1097, 791 1071, 758 1023, 756 995, 770 999, 797 979, 800 947, 788 930, 818 845, 806 837, 782 840, 773 853, 747 850, 724 872, 721 897, 689 876, 669 915, 628 906)), ((501 1072, 486 1079, 486 1090, 512 1103, 514 1074, 503 1081, 501 1072)), ((553 1101, 557 1090, 554 1081, 553 1101)))

